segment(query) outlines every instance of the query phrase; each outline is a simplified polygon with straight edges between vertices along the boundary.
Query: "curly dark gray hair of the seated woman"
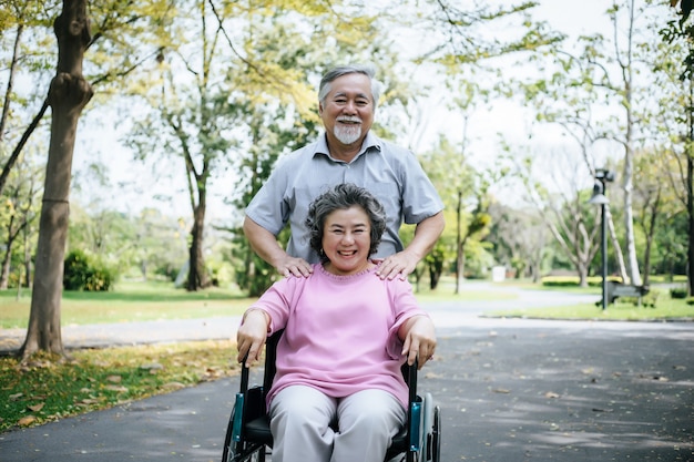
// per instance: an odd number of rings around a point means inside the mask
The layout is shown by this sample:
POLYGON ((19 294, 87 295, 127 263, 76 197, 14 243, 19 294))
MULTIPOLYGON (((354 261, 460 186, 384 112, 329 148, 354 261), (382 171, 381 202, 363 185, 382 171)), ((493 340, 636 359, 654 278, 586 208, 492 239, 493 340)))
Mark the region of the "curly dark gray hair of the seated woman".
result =
POLYGON ((343 183, 316 197, 308 207, 306 227, 309 232, 309 244, 320 256, 322 263, 328 261, 323 251, 323 233, 327 216, 335 211, 345 211, 354 206, 361 207, 371 223, 369 255, 374 255, 378 249, 386 230, 386 209, 367 189, 351 183, 343 183))

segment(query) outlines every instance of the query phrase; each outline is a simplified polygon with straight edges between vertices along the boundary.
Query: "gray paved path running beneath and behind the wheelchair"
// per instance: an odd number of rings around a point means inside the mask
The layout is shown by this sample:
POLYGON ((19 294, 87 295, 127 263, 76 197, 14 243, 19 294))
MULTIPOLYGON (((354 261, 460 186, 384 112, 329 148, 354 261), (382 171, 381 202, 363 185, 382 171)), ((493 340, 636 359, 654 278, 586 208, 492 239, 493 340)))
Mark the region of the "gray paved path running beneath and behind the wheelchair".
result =
MULTIPOLYGON (((427 306, 439 347, 419 388, 442 409, 441 462, 694 461, 694 324, 481 318, 491 305, 427 306)), ((237 319, 196 322, 147 326, 146 340, 152 328, 228 336, 237 319)), ((237 388, 223 379, 0 434, 0 461, 218 461, 237 388)))

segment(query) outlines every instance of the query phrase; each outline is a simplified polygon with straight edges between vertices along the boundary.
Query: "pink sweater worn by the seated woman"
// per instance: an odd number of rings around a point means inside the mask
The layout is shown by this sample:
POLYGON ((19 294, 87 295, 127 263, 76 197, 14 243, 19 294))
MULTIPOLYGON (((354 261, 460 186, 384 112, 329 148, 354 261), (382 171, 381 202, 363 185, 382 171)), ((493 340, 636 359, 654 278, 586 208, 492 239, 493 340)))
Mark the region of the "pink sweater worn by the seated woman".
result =
POLYGON ((305 384, 334 398, 380 389, 407 407, 398 329, 427 316, 408 281, 381 280, 376 268, 335 276, 317 264, 307 278, 275 283, 253 308, 269 315, 272 332, 285 329, 268 403, 283 388, 305 384))

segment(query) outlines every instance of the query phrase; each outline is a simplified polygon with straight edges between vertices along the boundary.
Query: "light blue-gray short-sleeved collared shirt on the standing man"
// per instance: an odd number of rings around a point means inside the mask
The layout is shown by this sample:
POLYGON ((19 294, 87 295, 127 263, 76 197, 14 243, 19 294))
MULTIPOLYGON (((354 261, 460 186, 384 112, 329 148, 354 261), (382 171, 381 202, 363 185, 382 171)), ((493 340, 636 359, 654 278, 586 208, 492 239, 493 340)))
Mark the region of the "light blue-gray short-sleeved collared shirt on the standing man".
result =
POLYGON ((386 209, 387 227, 376 258, 402 250, 398 236, 402 223, 417 224, 443 209, 439 194, 412 152, 369 132, 359 153, 347 163, 330 156, 323 133, 315 143, 277 161, 268 181, 248 204, 246 215, 274 235, 289 222, 287 254, 317 263, 319 258, 310 248, 305 224, 308 206, 340 183, 368 189, 386 209))

